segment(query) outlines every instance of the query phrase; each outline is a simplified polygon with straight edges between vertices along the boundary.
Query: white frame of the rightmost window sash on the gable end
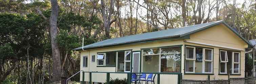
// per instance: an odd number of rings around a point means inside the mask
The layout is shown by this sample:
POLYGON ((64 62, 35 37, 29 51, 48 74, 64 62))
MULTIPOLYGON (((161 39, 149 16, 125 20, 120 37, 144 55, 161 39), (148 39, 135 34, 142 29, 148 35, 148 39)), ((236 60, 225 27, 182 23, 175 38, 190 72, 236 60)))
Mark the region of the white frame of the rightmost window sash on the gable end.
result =
POLYGON ((232 74, 240 74, 240 52, 232 52, 232 74), (238 62, 235 62, 235 53, 238 53, 238 62), (238 64, 238 73, 234 73, 234 64, 238 64))

